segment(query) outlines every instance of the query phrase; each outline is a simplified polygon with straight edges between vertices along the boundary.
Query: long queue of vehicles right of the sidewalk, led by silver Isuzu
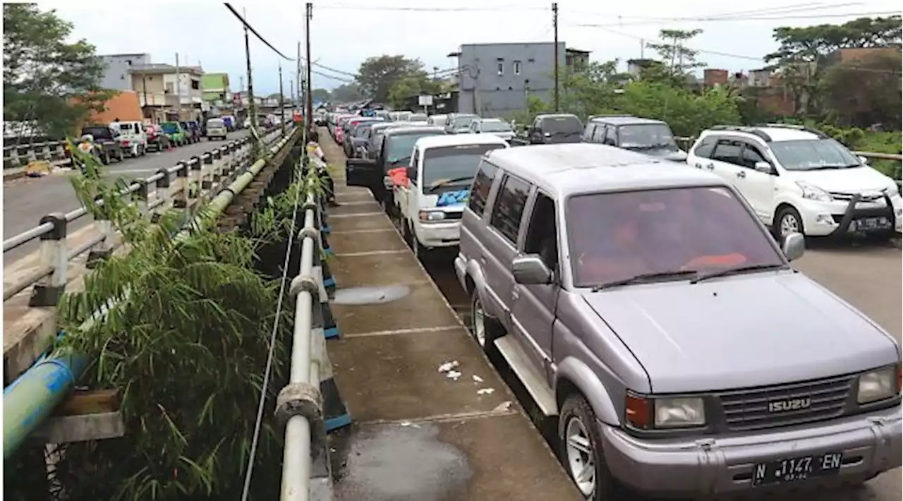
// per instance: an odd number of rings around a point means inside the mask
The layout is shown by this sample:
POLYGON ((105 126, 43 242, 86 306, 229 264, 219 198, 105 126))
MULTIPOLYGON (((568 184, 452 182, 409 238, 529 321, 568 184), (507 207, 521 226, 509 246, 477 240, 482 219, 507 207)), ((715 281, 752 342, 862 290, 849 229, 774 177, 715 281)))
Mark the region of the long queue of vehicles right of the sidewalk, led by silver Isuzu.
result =
POLYGON ((583 496, 768 494, 903 465, 903 349, 790 264, 804 232, 903 232, 894 181, 805 127, 712 127, 681 159, 639 117, 538 116, 537 145, 516 146, 477 120, 329 117, 351 136, 349 185, 417 255, 452 249, 474 340, 557 420, 583 496))

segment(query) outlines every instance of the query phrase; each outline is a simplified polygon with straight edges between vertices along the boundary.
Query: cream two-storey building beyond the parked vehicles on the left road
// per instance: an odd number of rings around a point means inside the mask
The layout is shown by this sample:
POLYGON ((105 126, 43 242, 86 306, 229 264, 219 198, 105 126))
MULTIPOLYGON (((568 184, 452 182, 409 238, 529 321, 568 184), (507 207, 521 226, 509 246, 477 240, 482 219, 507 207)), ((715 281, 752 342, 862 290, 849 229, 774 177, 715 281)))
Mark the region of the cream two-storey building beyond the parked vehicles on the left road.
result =
POLYGON ((173 116, 180 116, 183 120, 196 120, 209 109, 205 106, 200 89, 204 71, 199 67, 144 64, 133 65, 129 73, 145 118, 154 122, 173 116))

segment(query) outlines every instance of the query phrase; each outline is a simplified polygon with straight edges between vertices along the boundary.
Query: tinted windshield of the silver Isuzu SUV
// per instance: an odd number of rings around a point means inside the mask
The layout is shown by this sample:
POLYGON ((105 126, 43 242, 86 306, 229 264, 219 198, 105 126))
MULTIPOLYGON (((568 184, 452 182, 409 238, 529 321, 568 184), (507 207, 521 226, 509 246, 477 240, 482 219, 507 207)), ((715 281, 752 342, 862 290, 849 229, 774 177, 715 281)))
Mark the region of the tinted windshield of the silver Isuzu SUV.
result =
POLYGON ((578 195, 564 220, 577 287, 785 264, 749 210, 721 187, 578 195))

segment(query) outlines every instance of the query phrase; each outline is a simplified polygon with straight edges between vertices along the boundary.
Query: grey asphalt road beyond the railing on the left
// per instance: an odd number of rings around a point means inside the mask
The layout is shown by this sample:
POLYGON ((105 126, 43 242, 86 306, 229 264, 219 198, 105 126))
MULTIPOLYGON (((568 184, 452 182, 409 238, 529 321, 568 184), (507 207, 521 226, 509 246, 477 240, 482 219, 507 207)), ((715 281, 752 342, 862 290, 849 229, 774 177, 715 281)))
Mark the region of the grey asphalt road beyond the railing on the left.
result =
MULTIPOLYGON (((231 133, 229 140, 238 139, 247 135, 242 130, 231 133)), ((213 145, 222 144, 213 142, 213 145)), ((172 167, 176 162, 187 160, 194 155, 205 153, 214 146, 207 140, 197 144, 189 144, 176 148, 169 153, 147 153, 141 158, 129 158, 122 163, 111 163, 108 166, 111 176, 139 178, 148 177, 159 169, 172 167)), ((6 181, 4 191, 3 234, 4 238, 12 237, 32 227, 37 226, 42 216, 51 212, 68 212, 79 208, 79 200, 75 198, 75 192, 70 183, 70 174, 61 172, 50 174, 42 178, 22 178, 15 181, 6 181)), ((73 223, 69 231, 75 231, 79 227, 88 224, 89 218, 80 218, 73 223)), ((13 263, 16 259, 27 255, 37 248, 37 243, 32 242, 21 246, 14 251, 4 254, 4 264, 13 263)))

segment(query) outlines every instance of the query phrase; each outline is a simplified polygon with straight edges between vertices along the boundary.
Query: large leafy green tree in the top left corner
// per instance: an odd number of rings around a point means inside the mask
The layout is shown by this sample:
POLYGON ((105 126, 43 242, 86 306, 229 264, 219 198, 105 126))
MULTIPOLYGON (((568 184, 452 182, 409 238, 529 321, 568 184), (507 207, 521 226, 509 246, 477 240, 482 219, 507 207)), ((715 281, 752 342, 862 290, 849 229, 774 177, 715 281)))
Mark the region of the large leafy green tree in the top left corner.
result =
POLYGON ((3 19, 4 120, 62 137, 104 109, 112 92, 100 88, 103 62, 88 42, 66 42, 71 23, 34 4, 4 4, 3 19))

